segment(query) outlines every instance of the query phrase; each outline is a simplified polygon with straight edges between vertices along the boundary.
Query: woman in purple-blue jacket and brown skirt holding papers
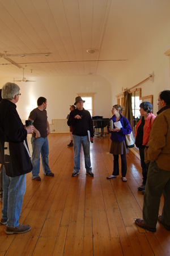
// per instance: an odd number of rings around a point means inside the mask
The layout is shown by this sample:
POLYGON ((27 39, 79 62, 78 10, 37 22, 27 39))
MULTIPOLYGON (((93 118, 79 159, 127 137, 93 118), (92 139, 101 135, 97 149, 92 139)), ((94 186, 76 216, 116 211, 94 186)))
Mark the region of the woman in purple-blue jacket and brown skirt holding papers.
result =
POLYGON ((120 105, 114 105, 112 108, 112 118, 109 119, 108 124, 108 132, 111 133, 111 148, 110 152, 113 154, 113 173, 109 175, 107 179, 117 178, 119 175, 119 167, 118 167, 118 155, 121 155, 121 174, 122 181, 126 182, 126 171, 127 171, 127 163, 126 163, 126 154, 129 153, 128 147, 126 145, 125 135, 130 134, 132 129, 128 119, 121 115, 123 107, 120 105), (113 120, 113 129, 110 125, 110 120, 113 120), (118 122, 117 124, 114 124, 118 122))

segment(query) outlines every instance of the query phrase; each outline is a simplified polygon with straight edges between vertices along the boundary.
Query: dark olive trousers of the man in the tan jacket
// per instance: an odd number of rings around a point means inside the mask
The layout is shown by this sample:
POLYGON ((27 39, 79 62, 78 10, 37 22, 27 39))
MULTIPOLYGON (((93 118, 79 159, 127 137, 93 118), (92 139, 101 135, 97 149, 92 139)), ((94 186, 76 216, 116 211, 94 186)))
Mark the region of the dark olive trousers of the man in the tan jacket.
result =
POLYGON ((155 228, 158 221, 162 194, 162 221, 170 225, 170 171, 160 169, 156 162, 150 162, 143 201, 143 220, 151 228, 155 228))

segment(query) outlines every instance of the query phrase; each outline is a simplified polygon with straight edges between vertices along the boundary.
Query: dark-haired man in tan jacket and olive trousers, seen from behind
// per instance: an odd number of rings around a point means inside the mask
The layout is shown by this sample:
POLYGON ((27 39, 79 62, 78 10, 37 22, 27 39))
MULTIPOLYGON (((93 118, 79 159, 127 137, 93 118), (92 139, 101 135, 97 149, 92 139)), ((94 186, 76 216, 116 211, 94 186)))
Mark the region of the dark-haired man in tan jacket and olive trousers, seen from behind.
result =
POLYGON ((152 125, 148 141, 147 158, 150 161, 143 202, 143 219, 135 224, 156 232, 156 223, 170 231, 170 91, 160 92, 158 116, 152 125), (159 214, 160 198, 164 195, 162 215, 159 214))

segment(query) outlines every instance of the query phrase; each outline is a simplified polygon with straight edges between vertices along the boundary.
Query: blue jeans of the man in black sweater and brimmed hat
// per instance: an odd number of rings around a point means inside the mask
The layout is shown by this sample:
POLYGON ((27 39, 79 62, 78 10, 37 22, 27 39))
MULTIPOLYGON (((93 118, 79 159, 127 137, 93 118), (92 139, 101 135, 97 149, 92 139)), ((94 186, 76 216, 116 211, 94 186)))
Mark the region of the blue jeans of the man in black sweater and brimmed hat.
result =
POLYGON ((90 141, 88 141, 88 136, 76 136, 73 135, 74 141, 74 170, 80 170, 80 150, 83 145, 84 161, 86 171, 91 171, 91 161, 90 161, 90 141))

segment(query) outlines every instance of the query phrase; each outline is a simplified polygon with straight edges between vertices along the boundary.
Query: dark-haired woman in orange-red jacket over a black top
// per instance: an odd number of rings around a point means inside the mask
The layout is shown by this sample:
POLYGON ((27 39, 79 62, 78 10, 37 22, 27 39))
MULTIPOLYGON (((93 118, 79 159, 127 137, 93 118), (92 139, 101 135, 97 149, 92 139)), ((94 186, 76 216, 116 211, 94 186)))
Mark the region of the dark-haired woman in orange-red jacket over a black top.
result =
POLYGON ((145 163, 144 151, 147 146, 148 139, 150 137, 152 123, 156 116, 152 114, 153 107, 150 102, 142 102, 139 107, 140 107, 139 111, 142 117, 138 121, 135 129, 135 145, 139 148, 143 182, 142 182, 142 185, 138 187, 138 190, 142 191, 142 194, 145 194, 145 184, 147 179, 147 170, 148 170, 149 162, 145 163))

